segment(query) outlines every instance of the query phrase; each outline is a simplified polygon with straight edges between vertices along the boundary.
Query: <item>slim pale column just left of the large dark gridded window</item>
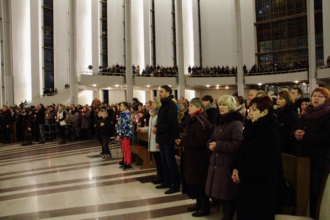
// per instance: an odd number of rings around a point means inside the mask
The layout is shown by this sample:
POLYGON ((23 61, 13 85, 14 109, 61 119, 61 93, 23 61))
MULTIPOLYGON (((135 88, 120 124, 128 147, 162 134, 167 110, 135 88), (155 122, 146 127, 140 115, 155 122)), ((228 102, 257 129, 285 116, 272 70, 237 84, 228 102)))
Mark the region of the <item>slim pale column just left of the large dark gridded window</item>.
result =
POLYGON ((236 28, 237 28, 237 90, 238 95, 244 97, 243 84, 243 53, 242 53, 242 28, 240 0, 235 1, 236 28))

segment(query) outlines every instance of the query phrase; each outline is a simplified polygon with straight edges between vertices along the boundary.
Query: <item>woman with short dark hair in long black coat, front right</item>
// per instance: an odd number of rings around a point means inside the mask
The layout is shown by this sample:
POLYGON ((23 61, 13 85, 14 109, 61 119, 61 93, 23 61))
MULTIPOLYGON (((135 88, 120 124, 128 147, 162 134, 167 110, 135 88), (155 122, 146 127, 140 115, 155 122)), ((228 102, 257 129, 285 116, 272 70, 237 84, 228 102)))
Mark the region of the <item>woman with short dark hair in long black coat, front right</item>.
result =
POLYGON ((275 219, 280 209, 278 195, 283 180, 280 137, 270 97, 256 97, 250 103, 250 118, 243 141, 232 164, 238 184, 237 219, 275 219))

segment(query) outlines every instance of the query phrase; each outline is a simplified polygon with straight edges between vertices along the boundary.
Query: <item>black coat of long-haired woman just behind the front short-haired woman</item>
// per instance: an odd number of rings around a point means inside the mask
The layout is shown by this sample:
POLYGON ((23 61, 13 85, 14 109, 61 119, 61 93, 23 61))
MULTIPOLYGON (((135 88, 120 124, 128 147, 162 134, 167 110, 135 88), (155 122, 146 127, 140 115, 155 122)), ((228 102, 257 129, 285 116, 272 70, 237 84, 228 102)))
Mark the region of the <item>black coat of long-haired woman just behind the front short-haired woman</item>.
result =
POLYGON ((292 127, 298 121, 298 109, 295 105, 286 105, 277 110, 277 126, 281 137, 281 152, 295 155, 292 127))

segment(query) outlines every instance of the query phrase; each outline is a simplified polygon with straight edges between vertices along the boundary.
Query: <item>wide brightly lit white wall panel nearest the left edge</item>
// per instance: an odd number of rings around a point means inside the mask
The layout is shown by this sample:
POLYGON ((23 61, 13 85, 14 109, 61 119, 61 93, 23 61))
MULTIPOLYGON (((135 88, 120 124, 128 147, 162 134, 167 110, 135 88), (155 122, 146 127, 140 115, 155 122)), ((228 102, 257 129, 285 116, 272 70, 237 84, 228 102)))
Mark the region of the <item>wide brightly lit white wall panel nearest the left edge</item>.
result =
MULTIPOLYGON (((5 1, 8 2, 8 1, 5 1)), ((6 4, 5 4, 6 5, 6 4)), ((10 8, 6 8, 6 11, 10 8)), ((13 48, 13 78, 7 74, 5 88, 10 93, 11 85, 14 88, 14 100, 7 98, 8 105, 19 104, 20 101, 31 100, 31 39, 30 39, 30 2, 12 0, 12 48, 13 48), (19 15, 19 16, 18 16, 19 15), (13 80, 13 84, 12 84, 13 80), (14 103, 13 103, 14 101, 14 103)), ((35 80, 35 79, 34 79, 35 80)), ((37 79, 39 80, 39 79, 37 79)))

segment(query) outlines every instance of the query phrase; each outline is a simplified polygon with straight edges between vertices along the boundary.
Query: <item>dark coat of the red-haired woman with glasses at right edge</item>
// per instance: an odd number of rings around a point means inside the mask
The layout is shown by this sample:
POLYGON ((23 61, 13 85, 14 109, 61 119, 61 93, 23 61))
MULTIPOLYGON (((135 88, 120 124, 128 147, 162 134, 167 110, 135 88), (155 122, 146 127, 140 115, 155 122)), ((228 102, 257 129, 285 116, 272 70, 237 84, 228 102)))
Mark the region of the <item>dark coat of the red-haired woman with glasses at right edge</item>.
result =
POLYGON ((330 166, 330 112, 317 119, 300 117, 294 130, 304 130, 303 140, 296 141, 298 155, 311 159, 310 195, 316 197, 324 170, 330 166))

